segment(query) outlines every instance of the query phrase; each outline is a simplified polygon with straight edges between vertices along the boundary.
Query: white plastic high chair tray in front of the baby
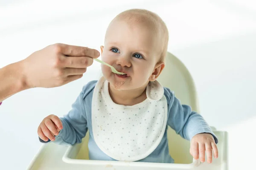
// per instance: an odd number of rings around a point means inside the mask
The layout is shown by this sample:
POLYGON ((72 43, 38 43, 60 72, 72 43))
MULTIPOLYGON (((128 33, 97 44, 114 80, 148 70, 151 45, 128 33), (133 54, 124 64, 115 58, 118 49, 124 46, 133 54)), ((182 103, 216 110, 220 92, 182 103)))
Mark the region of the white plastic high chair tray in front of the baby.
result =
POLYGON ((211 164, 193 160, 190 164, 85 160, 79 156, 82 144, 43 144, 27 170, 228 170, 227 132, 214 130, 219 139, 218 159, 211 164))

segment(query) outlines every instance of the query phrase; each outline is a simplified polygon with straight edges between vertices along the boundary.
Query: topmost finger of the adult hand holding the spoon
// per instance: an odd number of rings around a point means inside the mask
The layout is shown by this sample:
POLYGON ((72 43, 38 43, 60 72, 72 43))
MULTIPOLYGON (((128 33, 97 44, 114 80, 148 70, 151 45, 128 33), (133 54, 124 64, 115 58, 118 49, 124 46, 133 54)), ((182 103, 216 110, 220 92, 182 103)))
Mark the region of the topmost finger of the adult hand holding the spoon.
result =
POLYGON ((61 48, 61 53, 66 56, 71 57, 79 57, 79 56, 87 56, 92 58, 99 57, 99 51, 92 48, 81 47, 81 46, 74 46, 74 45, 67 45, 67 44, 57 44, 57 50, 61 48))

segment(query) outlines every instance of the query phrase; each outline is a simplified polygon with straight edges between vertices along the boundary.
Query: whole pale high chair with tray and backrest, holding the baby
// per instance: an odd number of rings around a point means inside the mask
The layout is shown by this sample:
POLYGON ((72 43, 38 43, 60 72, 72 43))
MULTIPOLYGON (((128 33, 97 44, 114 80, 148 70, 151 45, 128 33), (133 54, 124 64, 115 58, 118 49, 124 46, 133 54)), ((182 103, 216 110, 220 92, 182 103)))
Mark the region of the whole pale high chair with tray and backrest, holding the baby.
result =
MULTIPOLYGON (((167 53, 166 67, 158 81, 180 99, 182 104, 190 105, 193 111, 199 113, 195 85, 185 65, 174 55, 167 53)), ((190 142, 181 138, 171 128, 168 129, 169 152, 175 160, 174 164, 127 162, 127 161, 95 161, 88 157, 88 133, 82 143, 73 146, 63 146, 54 143, 42 144, 37 155, 29 164, 27 170, 228 170, 227 162, 227 132, 214 130, 219 143, 218 159, 211 164, 200 163, 189 154, 190 142)))

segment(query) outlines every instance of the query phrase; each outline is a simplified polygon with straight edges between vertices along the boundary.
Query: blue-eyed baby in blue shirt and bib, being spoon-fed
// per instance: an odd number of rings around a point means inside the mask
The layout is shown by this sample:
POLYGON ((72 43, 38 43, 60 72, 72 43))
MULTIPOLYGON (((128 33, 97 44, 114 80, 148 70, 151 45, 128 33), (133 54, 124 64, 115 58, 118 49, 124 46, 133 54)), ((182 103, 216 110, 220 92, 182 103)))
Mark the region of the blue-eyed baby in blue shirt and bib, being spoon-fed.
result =
POLYGON ((157 82, 165 67, 168 30, 151 11, 131 9, 117 15, 101 46, 103 77, 85 85, 63 118, 47 116, 38 127, 41 142, 76 144, 89 132, 91 160, 174 163, 168 125, 191 141, 195 159, 218 157, 217 137, 202 116, 181 105, 157 82))

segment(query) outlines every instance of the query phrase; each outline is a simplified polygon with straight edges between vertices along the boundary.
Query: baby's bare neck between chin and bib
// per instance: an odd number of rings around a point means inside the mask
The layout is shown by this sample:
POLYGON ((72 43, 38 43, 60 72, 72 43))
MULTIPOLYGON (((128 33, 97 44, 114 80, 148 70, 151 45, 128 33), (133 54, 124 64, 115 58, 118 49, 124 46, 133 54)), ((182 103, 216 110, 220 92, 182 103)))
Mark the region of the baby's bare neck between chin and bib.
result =
POLYGON ((110 84, 108 86, 109 95, 113 102, 118 105, 136 105, 143 102, 146 98, 146 87, 134 89, 134 90, 116 90, 110 84))

